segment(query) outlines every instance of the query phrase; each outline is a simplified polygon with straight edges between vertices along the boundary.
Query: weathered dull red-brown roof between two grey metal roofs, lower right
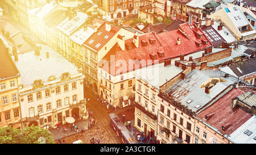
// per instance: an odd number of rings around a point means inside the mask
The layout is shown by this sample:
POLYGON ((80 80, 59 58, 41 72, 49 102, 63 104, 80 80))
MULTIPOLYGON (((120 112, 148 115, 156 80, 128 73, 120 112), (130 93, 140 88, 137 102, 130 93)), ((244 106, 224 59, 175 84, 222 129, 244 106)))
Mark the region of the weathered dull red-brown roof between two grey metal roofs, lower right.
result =
POLYGON ((233 109, 231 108, 231 100, 243 93, 245 93, 245 91, 241 89, 230 90, 223 97, 218 99, 217 102, 197 114, 197 117, 217 128, 219 131, 230 135, 253 116, 239 106, 233 109), (215 114, 209 120, 206 120, 205 116, 212 112, 215 112, 215 114), (230 126, 224 131, 222 130, 223 125, 230 126))

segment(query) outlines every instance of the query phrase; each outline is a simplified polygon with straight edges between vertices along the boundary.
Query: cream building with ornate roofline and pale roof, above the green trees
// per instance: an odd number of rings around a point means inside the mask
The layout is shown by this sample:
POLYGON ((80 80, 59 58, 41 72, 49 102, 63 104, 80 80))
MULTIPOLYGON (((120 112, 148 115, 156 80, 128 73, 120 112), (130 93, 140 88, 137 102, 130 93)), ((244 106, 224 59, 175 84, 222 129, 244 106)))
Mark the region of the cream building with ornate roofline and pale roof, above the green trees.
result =
POLYGON ((18 55, 19 99, 24 126, 55 128, 65 118, 86 113, 82 70, 51 48, 18 55))

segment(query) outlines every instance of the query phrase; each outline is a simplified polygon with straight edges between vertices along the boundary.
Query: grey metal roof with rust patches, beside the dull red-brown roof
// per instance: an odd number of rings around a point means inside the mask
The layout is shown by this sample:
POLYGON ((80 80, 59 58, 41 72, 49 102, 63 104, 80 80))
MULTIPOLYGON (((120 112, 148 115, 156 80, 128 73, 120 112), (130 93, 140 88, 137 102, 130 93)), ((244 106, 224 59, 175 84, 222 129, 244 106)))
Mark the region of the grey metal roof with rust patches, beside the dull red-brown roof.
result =
POLYGON ((190 110, 197 111, 237 81, 237 78, 233 76, 225 78, 224 75, 225 73, 221 70, 192 70, 186 75, 185 80, 177 81, 166 93, 172 95, 177 102, 188 106, 190 110), (225 82, 216 83, 207 94, 200 86, 213 78, 221 78, 225 82), (192 102, 188 103, 188 100, 192 100, 192 102))

